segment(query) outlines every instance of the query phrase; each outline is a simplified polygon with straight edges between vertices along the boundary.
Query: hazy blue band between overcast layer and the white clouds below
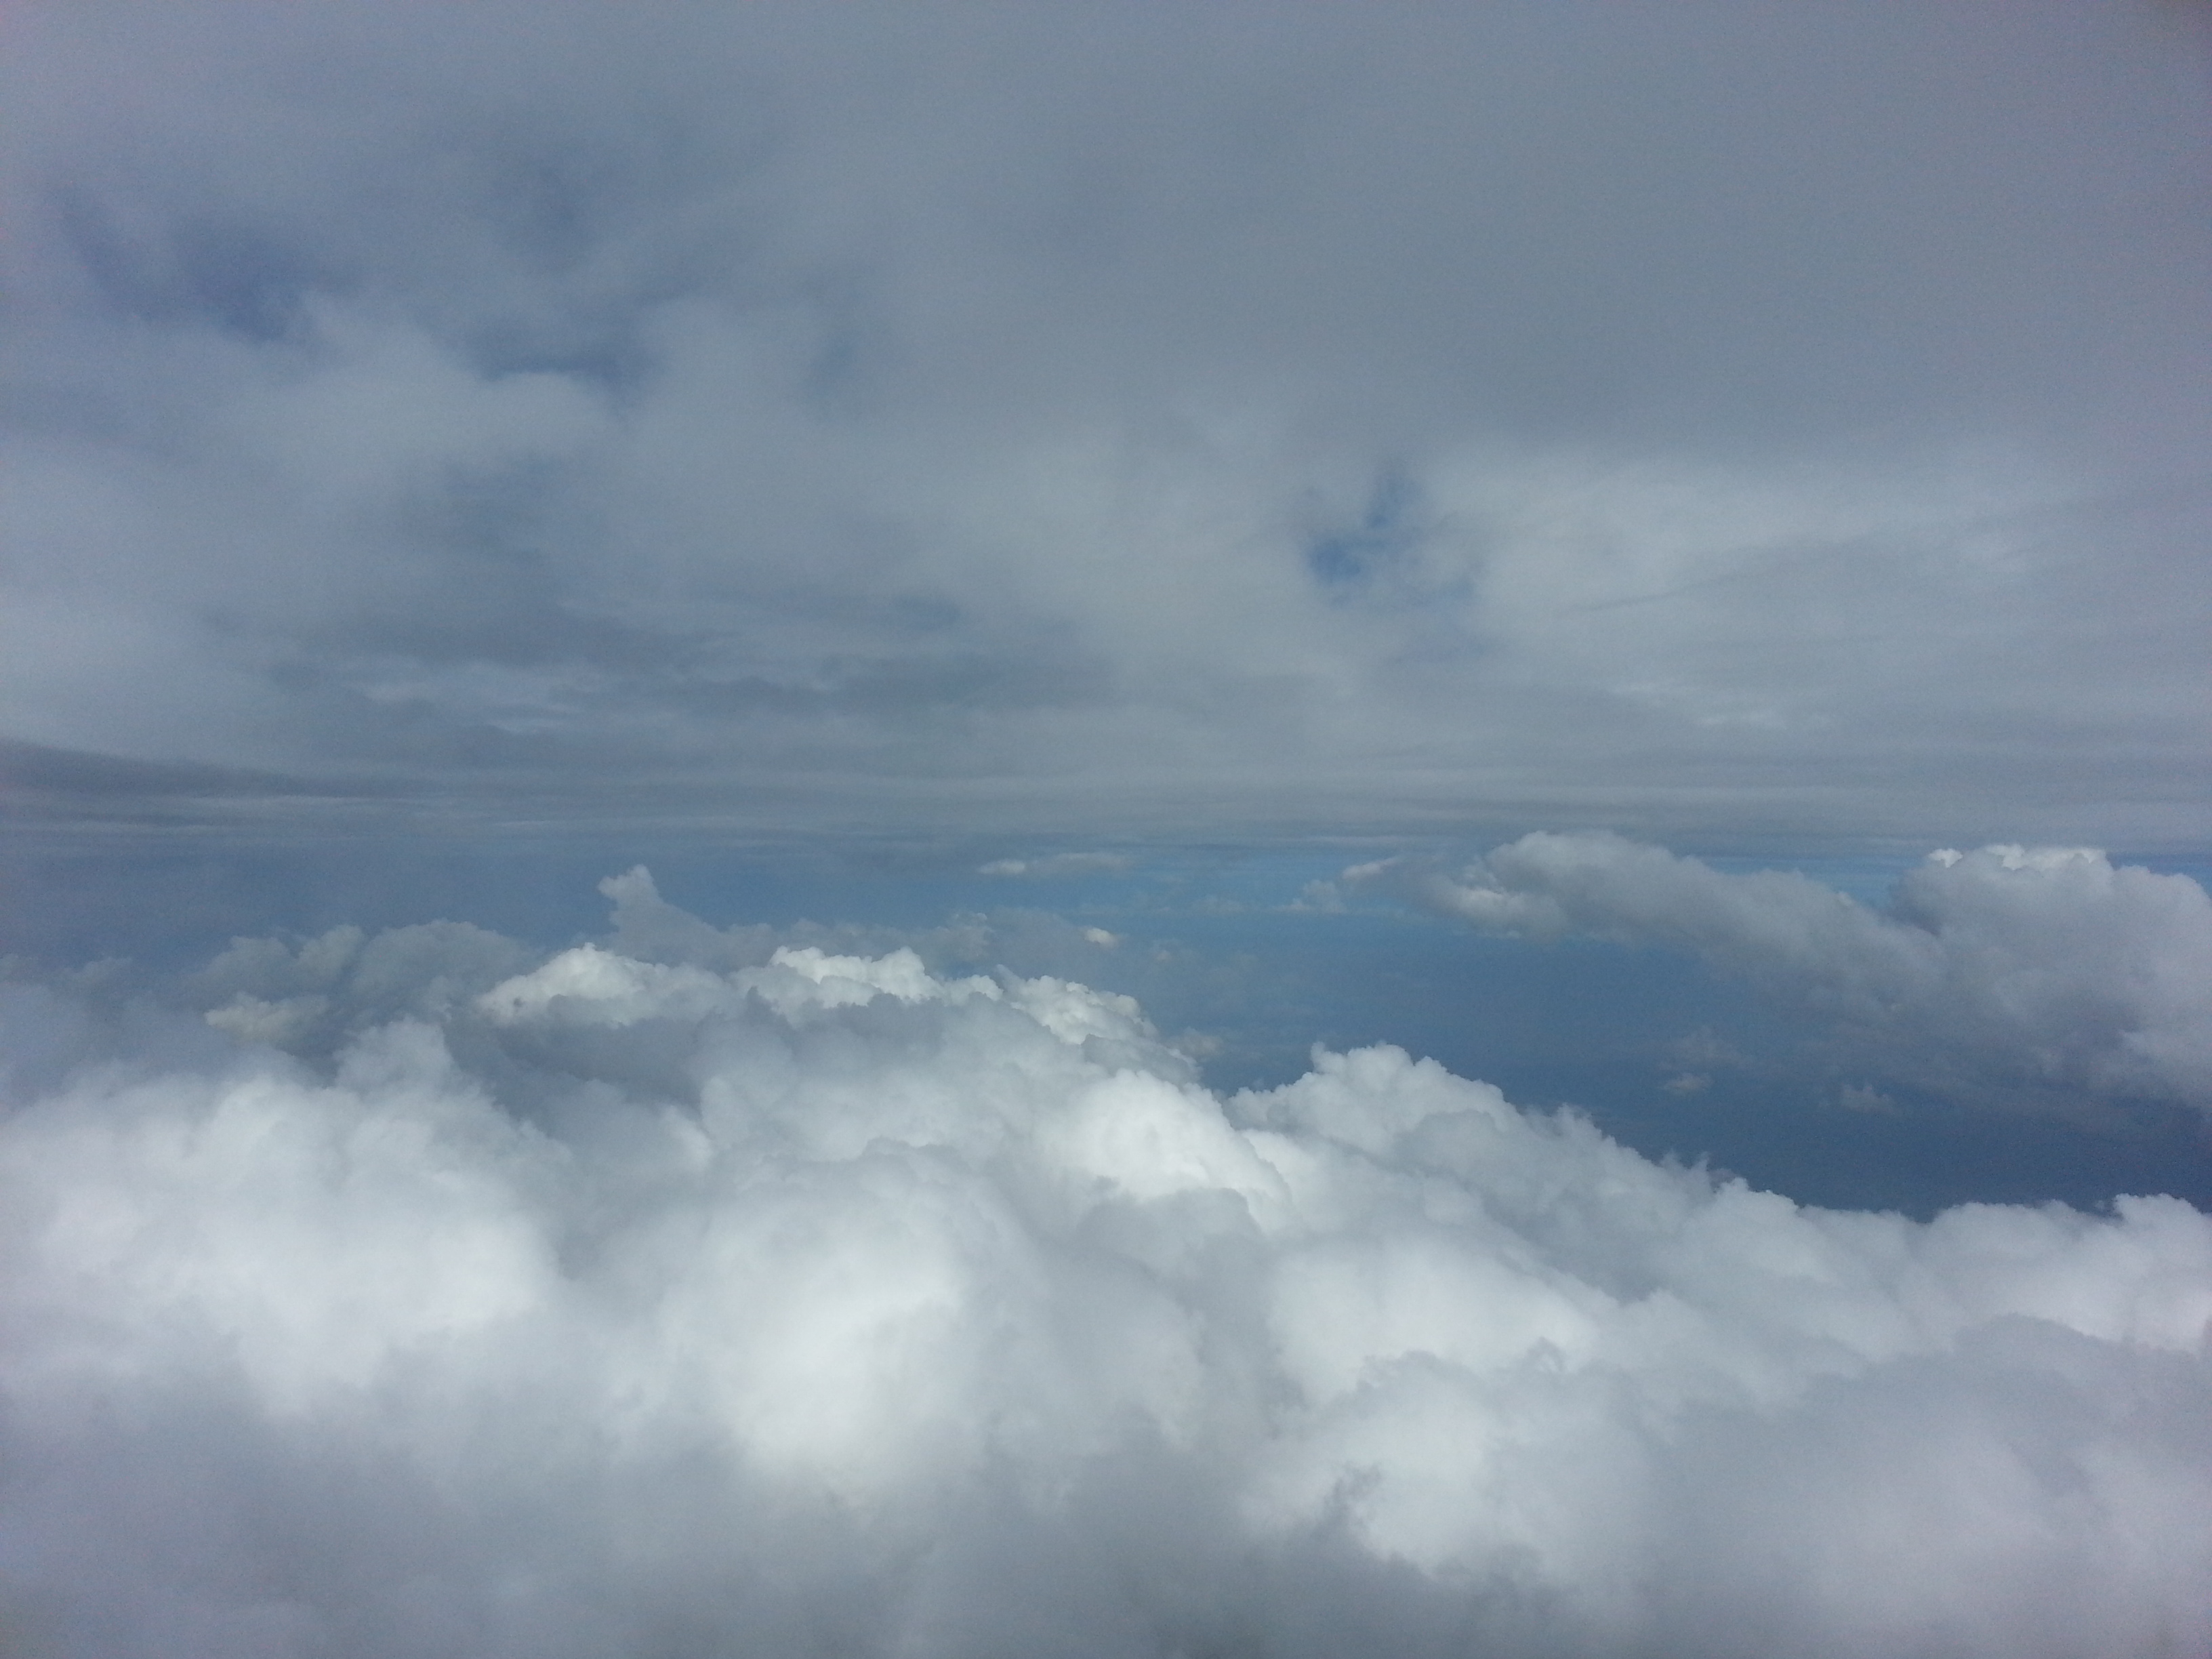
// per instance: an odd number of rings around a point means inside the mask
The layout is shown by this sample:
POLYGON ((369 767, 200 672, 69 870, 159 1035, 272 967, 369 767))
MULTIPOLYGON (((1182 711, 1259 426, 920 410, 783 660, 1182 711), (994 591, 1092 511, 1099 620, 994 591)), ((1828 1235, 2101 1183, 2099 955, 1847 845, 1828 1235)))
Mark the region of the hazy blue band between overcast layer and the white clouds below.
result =
MULTIPOLYGON (((1652 1157, 1705 1161, 1805 1203, 1927 1214, 2170 1192, 2212 1206, 2212 1135, 2185 1106, 2135 1102, 2068 1121, 1893 1091, 1880 1110, 1851 1110, 1834 1057, 1809 1057, 1816 1024, 1688 951, 1484 938, 1383 900, 1312 907, 1312 885, 1332 883, 1358 849, 1146 849, 1121 854, 1126 869, 1029 878, 980 876, 980 852, 701 854, 650 841, 378 847, 374 858, 343 847, 18 849, 9 933, 44 967, 124 956, 148 978, 195 969, 237 936, 299 942, 343 925, 465 920, 557 949, 602 936, 597 883, 644 863, 668 902, 717 927, 843 922, 889 942, 958 918, 1013 918, 956 967, 1130 993, 1168 1037, 1199 1040, 1221 1091, 1290 1082, 1314 1044, 1385 1042, 1493 1082, 1515 1104, 1582 1110, 1652 1157), (1018 925, 1040 911, 1119 942, 1071 956, 1057 936, 1042 942, 1018 925), (1703 1082, 1686 1091, 1683 1077, 1703 1082)), ((1792 867, 1880 905, 1909 860, 1792 867)))

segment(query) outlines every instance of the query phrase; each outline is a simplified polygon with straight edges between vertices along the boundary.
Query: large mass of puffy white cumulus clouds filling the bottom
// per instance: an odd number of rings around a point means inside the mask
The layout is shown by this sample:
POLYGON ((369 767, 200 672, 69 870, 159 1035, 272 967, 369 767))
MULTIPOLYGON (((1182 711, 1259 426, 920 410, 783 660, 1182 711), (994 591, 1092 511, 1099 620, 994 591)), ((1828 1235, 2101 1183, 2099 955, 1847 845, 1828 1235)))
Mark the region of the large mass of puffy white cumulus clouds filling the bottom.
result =
POLYGON ((1812 1210, 1391 1048, 1223 1099, 1126 998, 611 889, 11 1084, 9 1652, 2212 1644, 2181 1201, 1812 1210))

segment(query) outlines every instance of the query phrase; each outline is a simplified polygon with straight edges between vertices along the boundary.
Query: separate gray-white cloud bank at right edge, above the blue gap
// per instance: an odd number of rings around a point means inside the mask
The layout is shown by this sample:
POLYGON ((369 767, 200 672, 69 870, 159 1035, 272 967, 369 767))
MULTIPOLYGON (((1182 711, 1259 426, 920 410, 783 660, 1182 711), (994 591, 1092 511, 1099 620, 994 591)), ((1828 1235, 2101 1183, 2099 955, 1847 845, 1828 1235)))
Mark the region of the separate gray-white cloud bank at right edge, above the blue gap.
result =
POLYGON ((1818 1015, 1860 1071, 1920 1088, 2212 1110, 2212 898, 2088 847, 1936 852, 1887 909, 1610 834, 1522 836, 1458 878, 1347 878, 1484 931, 1694 951, 1818 1015))

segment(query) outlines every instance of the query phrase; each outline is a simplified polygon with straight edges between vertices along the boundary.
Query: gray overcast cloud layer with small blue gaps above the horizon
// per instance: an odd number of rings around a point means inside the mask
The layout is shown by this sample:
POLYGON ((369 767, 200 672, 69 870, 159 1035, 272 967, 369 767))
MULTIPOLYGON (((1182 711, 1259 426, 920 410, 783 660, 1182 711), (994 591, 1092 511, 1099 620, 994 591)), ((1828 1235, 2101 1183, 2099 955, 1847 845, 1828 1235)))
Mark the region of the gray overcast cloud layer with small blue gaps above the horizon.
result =
POLYGON ((31 821, 2205 847, 2194 9, 7 46, 31 821))

